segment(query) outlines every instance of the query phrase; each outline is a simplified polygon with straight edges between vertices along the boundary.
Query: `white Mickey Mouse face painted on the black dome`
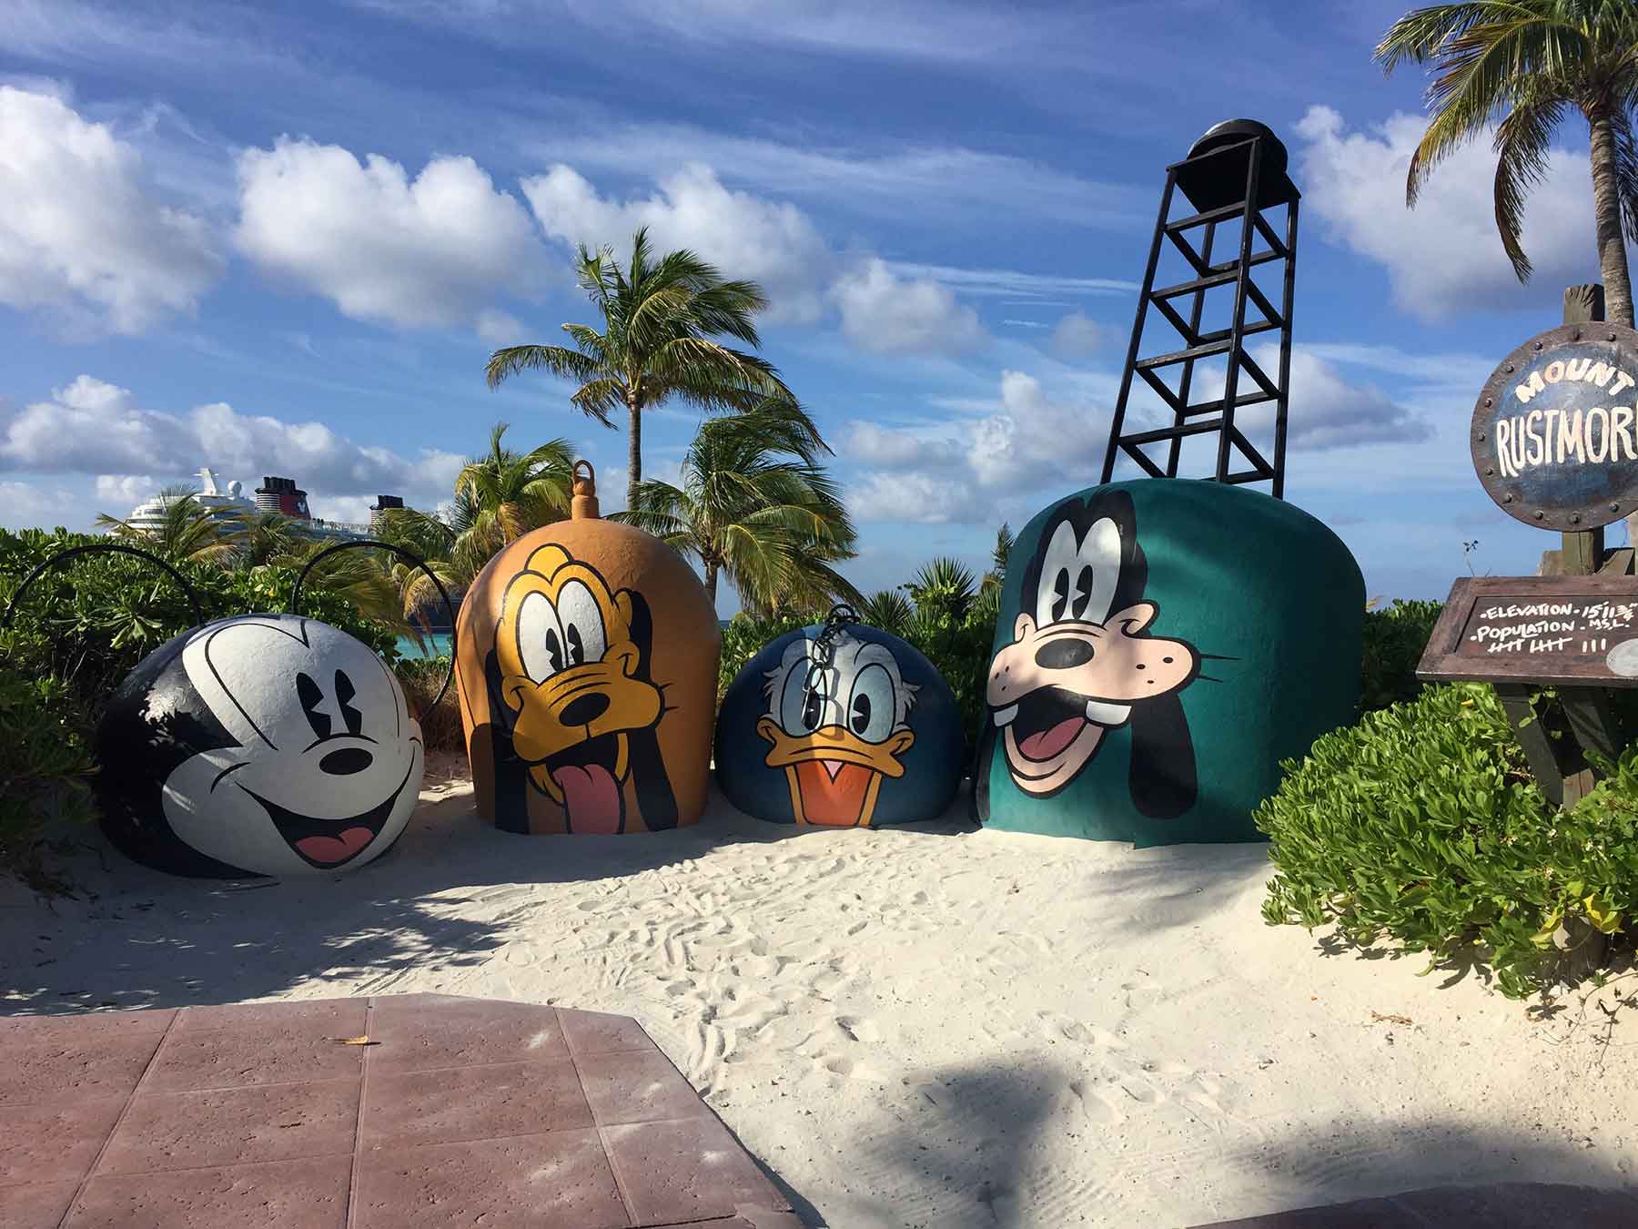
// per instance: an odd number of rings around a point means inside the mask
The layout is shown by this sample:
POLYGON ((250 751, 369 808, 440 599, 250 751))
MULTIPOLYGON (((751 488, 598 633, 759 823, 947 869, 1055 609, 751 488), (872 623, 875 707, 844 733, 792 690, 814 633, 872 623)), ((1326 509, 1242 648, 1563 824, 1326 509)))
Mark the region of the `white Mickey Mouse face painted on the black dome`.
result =
POLYGON ((352 868, 396 841, 421 790, 421 728, 364 644, 316 619, 251 614, 201 628, 180 667, 238 742, 165 778, 180 841, 259 875, 352 868))

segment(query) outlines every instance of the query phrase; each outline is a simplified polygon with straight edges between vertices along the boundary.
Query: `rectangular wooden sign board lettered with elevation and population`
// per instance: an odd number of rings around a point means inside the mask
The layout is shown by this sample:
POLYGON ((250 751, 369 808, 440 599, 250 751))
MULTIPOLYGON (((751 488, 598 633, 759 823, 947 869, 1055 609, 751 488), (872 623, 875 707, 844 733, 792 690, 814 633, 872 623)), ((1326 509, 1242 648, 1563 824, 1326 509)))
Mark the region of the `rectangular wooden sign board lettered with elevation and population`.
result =
POLYGON ((1417 678, 1638 687, 1638 577, 1458 580, 1417 678))

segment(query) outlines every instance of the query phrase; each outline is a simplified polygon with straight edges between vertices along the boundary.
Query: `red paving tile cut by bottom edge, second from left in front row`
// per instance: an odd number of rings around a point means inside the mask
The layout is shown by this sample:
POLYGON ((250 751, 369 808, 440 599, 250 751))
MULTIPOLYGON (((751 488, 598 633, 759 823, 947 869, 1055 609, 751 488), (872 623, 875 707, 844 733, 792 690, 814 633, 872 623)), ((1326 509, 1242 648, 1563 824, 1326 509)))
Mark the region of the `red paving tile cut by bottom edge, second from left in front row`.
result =
POLYGON ((64 1229, 342 1229, 351 1157, 97 1177, 64 1229))

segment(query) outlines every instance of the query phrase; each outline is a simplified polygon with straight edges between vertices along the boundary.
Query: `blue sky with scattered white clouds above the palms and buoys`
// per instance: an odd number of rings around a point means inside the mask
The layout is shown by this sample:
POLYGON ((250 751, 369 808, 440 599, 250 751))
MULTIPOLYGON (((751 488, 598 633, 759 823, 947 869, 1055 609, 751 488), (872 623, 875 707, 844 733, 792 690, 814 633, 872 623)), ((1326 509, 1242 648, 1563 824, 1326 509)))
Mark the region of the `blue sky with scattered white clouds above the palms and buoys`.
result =
MULTIPOLYGON (((1404 206, 1425 80, 1369 59, 1404 7, 7 0, 0 524, 87 528, 206 462, 344 519, 431 506, 498 419, 573 441, 619 506, 624 436, 483 364, 590 320, 572 244, 647 223, 770 292, 850 578, 980 564, 1097 480, 1165 166, 1248 115, 1304 192, 1287 498, 1373 595, 1443 596, 1464 541, 1530 574, 1556 536, 1489 501, 1466 424, 1597 280, 1586 134, 1520 287, 1482 144, 1404 206)), ((647 419, 650 477, 695 421, 647 419)))

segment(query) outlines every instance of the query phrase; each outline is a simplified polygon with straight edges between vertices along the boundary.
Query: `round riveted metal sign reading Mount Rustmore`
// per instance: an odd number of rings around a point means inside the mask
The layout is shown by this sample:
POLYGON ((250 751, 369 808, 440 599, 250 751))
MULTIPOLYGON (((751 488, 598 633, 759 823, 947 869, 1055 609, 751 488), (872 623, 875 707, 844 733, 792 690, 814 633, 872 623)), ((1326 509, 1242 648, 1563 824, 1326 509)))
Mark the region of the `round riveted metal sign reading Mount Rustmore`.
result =
POLYGON ((1540 529, 1638 511, 1638 333, 1561 324, 1515 349, 1473 410, 1473 465, 1497 506, 1540 529))

